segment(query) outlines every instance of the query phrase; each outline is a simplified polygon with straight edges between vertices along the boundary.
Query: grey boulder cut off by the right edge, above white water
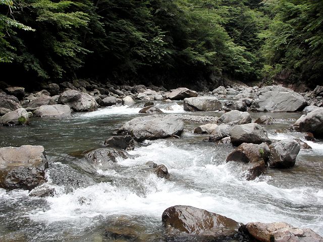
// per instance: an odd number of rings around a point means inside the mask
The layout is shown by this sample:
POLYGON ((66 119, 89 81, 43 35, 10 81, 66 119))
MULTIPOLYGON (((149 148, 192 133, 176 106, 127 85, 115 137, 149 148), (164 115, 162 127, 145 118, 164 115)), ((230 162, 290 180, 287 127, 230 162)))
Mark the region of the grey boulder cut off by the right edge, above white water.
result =
POLYGON ((296 121, 299 131, 311 132, 315 138, 323 138, 323 108, 315 109, 296 121))

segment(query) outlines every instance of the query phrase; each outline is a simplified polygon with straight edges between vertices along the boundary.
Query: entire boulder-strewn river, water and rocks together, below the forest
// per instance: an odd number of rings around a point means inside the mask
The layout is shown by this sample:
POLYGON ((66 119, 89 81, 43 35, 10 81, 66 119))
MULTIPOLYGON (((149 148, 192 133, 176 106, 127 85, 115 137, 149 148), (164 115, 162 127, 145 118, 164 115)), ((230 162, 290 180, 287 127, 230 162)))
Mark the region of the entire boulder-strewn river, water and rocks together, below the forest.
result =
POLYGON ((323 241, 323 88, 43 88, 0 93, 1 241, 323 241))

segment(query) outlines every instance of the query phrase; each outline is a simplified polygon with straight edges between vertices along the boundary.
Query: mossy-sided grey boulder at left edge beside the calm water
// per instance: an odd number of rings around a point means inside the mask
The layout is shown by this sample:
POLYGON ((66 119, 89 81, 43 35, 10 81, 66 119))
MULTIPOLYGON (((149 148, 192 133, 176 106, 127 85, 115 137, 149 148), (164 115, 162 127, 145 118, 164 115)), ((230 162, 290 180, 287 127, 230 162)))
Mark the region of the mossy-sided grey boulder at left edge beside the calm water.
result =
POLYGON ((29 114, 25 108, 18 108, 14 111, 7 112, 0 117, 0 124, 3 124, 4 126, 28 125, 29 114))

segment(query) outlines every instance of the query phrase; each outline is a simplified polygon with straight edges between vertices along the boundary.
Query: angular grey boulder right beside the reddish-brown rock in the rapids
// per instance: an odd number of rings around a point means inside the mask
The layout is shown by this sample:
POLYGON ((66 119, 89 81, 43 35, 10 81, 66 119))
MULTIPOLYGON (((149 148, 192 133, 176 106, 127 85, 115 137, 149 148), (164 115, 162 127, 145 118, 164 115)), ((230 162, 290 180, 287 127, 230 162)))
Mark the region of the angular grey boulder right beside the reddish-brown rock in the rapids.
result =
POLYGON ((269 146, 271 154, 268 160, 270 167, 289 168, 295 165, 300 150, 299 143, 294 139, 281 140, 269 146))

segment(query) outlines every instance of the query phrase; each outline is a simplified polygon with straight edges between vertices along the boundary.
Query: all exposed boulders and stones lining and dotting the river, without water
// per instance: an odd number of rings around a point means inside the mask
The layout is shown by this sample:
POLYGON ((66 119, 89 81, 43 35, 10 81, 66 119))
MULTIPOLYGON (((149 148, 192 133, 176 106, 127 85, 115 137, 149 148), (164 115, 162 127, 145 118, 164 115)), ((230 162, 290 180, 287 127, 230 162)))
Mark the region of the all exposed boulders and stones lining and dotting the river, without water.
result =
MULTIPOLYGON (((83 80, 49 84, 34 93, 25 92, 23 87, 6 87, 0 90, 0 124, 27 126, 32 124, 33 117, 56 118, 60 122, 61 118, 70 117, 75 112, 91 112, 108 106, 132 106, 138 101, 146 102, 139 111, 141 116, 125 122, 116 130, 116 136, 105 140, 103 148, 84 154, 91 166, 102 170, 120 168, 118 160, 132 158, 129 150, 147 145, 142 143, 145 140, 178 139, 189 123, 196 127, 194 134, 206 134, 208 142, 234 146, 234 151, 225 162, 240 167, 241 176, 253 180, 266 169, 293 167, 300 149, 310 148, 297 139, 268 138, 266 127, 275 122, 272 112, 304 113, 290 130, 303 132, 305 139, 323 138, 322 86, 305 93, 281 86, 221 86, 208 93, 198 93, 187 88, 168 91, 163 87, 112 86, 83 80), (190 113, 166 114, 155 107, 153 101, 165 104, 181 101, 184 110, 190 113), (213 111, 221 116, 194 115, 200 111, 213 111), (252 122, 250 111, 265 111, 268 114, 252 122)), ((36 197, 54 196, 52 189, 36 190, 46 184, 47 168, 48 161, 42 146, 26 144, 0 148, 0 188, 29 190, 30 196, 36 197)), ((154 162, 136 169, 136 172, 149 172, 165 179, 171 175, 164 164, 154 162)), ((285 222, 241 224, 190 206, 178 205, 166 209, 162 222, 166 228, 165 236, 171 241, 176 238, 180 238, 179 241, 211 241, 239 236, 245 241, 323 241, 308 228, 297 228, 285 222)), ((116 235, 111 231, 106 231, 106 234, 124 239, 133 237, 125 233, 116 235)))

